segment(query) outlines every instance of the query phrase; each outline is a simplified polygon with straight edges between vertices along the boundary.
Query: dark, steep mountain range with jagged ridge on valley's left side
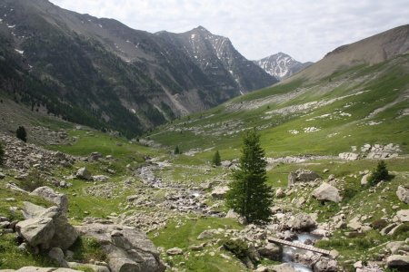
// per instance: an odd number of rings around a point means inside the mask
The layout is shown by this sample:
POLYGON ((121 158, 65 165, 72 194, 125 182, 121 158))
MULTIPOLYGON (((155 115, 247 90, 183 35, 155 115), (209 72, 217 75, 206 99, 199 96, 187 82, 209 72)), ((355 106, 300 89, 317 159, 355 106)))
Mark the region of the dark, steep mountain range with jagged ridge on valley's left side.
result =
POLYGON ((277 82, 199 26, 150 34, 47 0, 2 0, 1 89, 33 111, 127 136, 277 82))

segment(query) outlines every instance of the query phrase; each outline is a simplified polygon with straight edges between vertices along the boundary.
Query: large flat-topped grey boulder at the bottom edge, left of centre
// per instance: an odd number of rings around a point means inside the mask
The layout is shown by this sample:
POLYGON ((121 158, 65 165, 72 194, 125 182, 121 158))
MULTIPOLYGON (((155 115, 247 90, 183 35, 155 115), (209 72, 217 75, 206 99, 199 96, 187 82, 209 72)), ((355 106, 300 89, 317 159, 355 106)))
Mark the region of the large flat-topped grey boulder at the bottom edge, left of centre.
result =
POLYGON ((103 246, 112 272, 165 271, 155 245, 137 228, 103 224, 76 228, 103 246))

